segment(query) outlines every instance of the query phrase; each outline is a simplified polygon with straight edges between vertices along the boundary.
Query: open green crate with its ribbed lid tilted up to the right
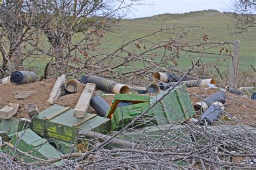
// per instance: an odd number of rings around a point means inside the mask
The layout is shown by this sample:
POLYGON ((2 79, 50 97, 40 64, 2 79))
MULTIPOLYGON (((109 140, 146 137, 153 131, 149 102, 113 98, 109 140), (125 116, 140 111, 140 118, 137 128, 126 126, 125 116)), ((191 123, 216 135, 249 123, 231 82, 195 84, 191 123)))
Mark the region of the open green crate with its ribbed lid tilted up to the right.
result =
MULTIPOLYGON (((111 130, 118 130, 129 124, 134 118, 146 111, 150 105, 161 98, 166 91, 154 96, 115 95, 112 106, 106 114, 111 118, 111 130), (120 101, 129 101, 132 105, 118 107, 120 101)), ((149 112, 142 116, 135 125, 152 126, 184 122, 195 114, 193 104, 185 86, 178 86, 165 96, 149 112)))

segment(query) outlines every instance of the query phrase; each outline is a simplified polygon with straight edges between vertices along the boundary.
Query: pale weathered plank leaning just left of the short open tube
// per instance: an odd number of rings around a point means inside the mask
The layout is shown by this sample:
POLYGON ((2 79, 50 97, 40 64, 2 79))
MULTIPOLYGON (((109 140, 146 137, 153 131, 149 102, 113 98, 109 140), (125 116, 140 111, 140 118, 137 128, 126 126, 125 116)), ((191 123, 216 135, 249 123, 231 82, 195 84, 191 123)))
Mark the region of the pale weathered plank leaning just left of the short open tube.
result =
POLYGON ((50 104, 53 104, 57 100, 58 96, 60 95, 60 91, 62 90, 63 83, 65 81, 66 81, 66 75, 65 74, 62 74, 56 80, 56 82, 55 82, 55 84, 54 84, 54 86, 52 88, 50 97, 48 99, 48 102, 50 104))

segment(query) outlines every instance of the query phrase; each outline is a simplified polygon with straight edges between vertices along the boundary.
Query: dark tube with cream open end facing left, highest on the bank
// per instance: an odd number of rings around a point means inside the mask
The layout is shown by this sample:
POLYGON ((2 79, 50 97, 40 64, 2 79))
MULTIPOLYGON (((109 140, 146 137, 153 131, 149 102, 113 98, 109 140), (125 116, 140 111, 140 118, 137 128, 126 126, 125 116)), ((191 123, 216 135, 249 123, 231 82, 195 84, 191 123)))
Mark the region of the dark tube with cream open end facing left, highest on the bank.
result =
MULTIPOLYGON (((172 74, 172 73, 162 73, 162 72, 155 72, 152 75, 154 82, 177 82, 181 79, 182 76, 172 74)), ((189 77, 185 77, 184 80, 191 80, 189 77)))

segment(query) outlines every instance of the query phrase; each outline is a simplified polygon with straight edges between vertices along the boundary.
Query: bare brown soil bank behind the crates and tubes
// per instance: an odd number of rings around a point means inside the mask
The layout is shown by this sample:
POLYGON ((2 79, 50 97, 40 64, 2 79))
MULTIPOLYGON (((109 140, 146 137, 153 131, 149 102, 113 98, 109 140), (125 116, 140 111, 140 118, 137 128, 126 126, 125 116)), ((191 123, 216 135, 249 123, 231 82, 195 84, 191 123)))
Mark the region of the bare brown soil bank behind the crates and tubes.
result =
MULTIPOLYGON (((48 79, 42 82, 28 83, 28 84, 0 84, 0 108, 5 107, 9 103, 19 103, 18 113, 15 115, 17 118, 29 118, 24 110, 26 103, 35 102, 39 111, 47 109, 50 104, 47 102, 51 93, 52 87, 55 84, 55 79, 48 79), (18 100, 14 98, 12 91, 36 91, 24 100, 18 100)), ((56 101, 56 104, 63 105, 64 107, 75 108, 76 103, 82 94, 85 84, 79 83, 77 93, 60 96, 56 101)), ((207 95, 213 94, 217 89, 203 89, 203 88, 187 88, 190 93, 192 102, 195 104, 207 95)), ((225 105, 225 112, 229 121, 225 121, 227 124, 235 124, 235 121, 240 124, 255 125, 256 122, 256 101, 246 98, 245 96, 238 96, 230 93, 226 93, 227 102, 225 105)), ((103 97, 107 103, 111 103, 113 96, 108 95, 103 97)), ((87 112, 95 113, 92 108, 89 108, 87 112)), ((198 116, 198 115, 197 115, 198 116)))

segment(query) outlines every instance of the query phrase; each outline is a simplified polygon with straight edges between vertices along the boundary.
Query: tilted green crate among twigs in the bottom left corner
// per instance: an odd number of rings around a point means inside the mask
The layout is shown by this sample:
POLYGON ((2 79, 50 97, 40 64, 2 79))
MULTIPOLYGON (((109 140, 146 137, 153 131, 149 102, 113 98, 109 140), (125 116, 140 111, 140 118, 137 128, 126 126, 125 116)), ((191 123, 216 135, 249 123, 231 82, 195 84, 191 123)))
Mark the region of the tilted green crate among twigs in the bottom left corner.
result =
MULTIPOLYGON (((20 154, 17 150, 12 149, 11 146, 16 145, 16 148, 22 152, 30 154, 33 157, 50 160, 53 158, 60 158, 63 154, 52 147, 46 139, 39 137, 31 129, 26 129, 21 132, 17 132, 10 135, 11 140, 9 145, 4 148, 5 153, 16 155, 16 159, 24 162, 35 162, 38 161, 29 157, 28 155, 20 154)), ((55 163, 55 165, 63 164, 63 160, 55 163)))

